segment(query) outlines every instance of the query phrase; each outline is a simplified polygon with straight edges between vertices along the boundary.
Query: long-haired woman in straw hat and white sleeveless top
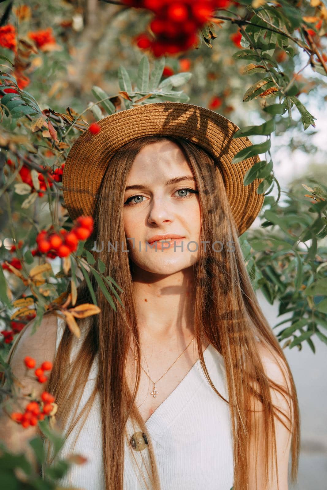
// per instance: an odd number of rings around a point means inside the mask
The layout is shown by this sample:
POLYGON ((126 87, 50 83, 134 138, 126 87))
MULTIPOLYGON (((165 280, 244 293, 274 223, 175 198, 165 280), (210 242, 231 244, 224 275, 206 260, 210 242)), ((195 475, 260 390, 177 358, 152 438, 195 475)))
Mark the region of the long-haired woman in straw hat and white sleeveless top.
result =
MULTIPOLYGON (((238 242, 263 199, 258 180, 243 185, 258 158, 231 164, 251 142, 233 139, 238 127, 219 114, 182 103, 99 124, 68 155, 64 197, 72 218, 94 215, 98 257, 122 305, 114 311, 94 284, 101 313, 80 321, 78 342, 53 317, 37 334, 54 361, 47 389, 68 435, 61 457, 89 458, 62 483, 286 490, 290 450, 292 480, 299 454, 296 390, 238 242)), ((85 285, 78 301, 92 302, 85 285)), ((27 337, 12 365, 37 355, 27 337)))

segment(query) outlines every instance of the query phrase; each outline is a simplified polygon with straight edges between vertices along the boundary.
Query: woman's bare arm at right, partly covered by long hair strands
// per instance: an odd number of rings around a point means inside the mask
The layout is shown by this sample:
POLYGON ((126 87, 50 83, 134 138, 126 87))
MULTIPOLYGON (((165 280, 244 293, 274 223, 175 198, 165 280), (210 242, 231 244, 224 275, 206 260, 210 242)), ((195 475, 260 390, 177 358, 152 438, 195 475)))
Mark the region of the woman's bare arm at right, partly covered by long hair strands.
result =
MULTIPOLYGON (((260 349, 261 360, 263 363, 264 370, 269 378, 271 378, 275 383, 283 386, 285 389, 290 389, 289 376, 286 371, 284 363, 280 360, 276 360, 275 357, 267 351, 265 348, 260 349), (285 375, 285 378, 283 376, 285 375)), ((258 453, 257 458, 255 457, 255 439, 254 433, 251 436, 250 445, 250 485, 249 490, 288 490, 288 460, 291 447, 291 432, 287 429, 290 428, 290 421, 286 417, 291 418, 292 411, 289 407, 290 398, 285 397, 275 389, 271 389, 271 396, 273 405, 278 407, 282 413, 277 412, 278 416, 284 422, 286 427, 281 421, 274 417, 275 421, 275 433, 276 433, 276 449, 277 449, 277 472, 276 466, 272 464, 270 458, 269 472, 271 472, 269 485, 266 485, 266 478, 264 474, 264 419, 261 403, 255 401, 255 409, 259 410, 257 412, 258 419, 258 453), (282 414, 285 414, 283 416, 282 414), (257 475, 255 475, 255 464, 257 464, 257 475), (277 486, 278 481, 278 486, 277 486)), ((285 395, 286 396, 286 395, 285 395)), ((292 405, 291 405, 292 407, 292 405)), ((252 419, 252 426, 254 424, 254 419, 252 419)))

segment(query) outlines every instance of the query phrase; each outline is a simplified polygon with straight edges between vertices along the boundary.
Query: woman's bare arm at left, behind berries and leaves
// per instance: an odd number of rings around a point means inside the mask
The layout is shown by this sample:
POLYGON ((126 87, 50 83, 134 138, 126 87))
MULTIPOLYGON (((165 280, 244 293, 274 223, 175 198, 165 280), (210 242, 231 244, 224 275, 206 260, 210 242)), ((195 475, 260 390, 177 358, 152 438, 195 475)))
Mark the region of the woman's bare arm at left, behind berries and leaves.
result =
MULTIPOLYGON (((45 316, 36 332, 31 335, 33 321, 25 326, 23 335, 19 339, 10 360, 10 367, 18 382, 22 383, 24 386, 24 388, 21 388, 20 394, 28 394, 34 391, 36 396, 39 397, 41 393, 46 390, 47 383, 39 383, 37 381, 37 378, 34 375, 34 369, 30 369, 26 373, 24 358, 26 356, 34 358, 37 368, 41 366, 43 361, 53 362, 57 324, 56 317, 53 315, 45 316)), ((20 424, 13 421, 6 412, 10 414, 11 412, 20 411, 20 409, 18 406, 11 403, 9 412, 7 400, 9 400, 9 397, 3 401, 2 407, 0 407, 0 441, 3 441, 7 449, 11 452, 25 452, 26 457, 32 463, 34 468, 38 469, 34 459, 34 453, 28 444, 28 441, 37 435, 37 426, 23 428, 20 424)), ((27 400, 22 401, 23 411, 26 404, 27 400)))

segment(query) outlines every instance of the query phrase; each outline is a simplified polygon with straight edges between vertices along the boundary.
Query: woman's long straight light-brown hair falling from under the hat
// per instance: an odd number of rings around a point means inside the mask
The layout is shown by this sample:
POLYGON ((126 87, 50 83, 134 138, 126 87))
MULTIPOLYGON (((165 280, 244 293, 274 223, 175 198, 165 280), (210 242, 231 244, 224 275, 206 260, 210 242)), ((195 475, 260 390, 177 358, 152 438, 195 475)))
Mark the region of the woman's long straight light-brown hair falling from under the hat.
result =
MULTIPOLYGON (((210 343, 221 353, 226 367, 230 421, 233 436, 234 490, 246 490, 249 481, 250 434, 252 432, 250 412, 251 400, 256 397, 262 404, 264 430, 260 441, 264 440, 264 472, 269 481, 269 464, 275 462, 277 468, 274 417, 281 420, 280 410, 272 404, 270 389, 274 388, 288 399, 292 417, 288 418, 292 433, 291 479, 295 481, 299 458, 299 409, 296 389, 290 369, 282 349, 273 335, 254 294, 246 270, 238 233, 232 211, 226 196, 219 162, 205 150, 186 140, 175 137, 150 136, 134 140, 122 147, 109 162, 103 177, 96 206, 95 239, 108 239, 112 243, 124 242, 123 198, 126 179, 134 158, 141 148, 153 142, 168 139, 175 142, 184 152, 196 178, 201 206, 201 241, 223 244, 233 242, 235 251, 230 253, 224 246, 220 253, 211 246, 204 249, 199 245, 199 260, 195 264, 196 293, 194 302, 194 334, 197 341, 201 367, 212 389, 215 389, 206 370, 201 342, 210 343), (217 238, 218 237, 218 238, 217 238), (223 309, 224 307, 224 309, 223 309), (287 368, 290 390, 277 385, 265 374, 259 355, 259 343, 270 348, 279 361, 287 368), (255 386, 255 388, 253 388, 255 386)), ((99 242, 98 242, 99 243, 99 242)), ((80 400, 92 364, 97 357, 98 377, 95 390, 79 417, 66 430, 69 435, 79 419, 87 417, 99 393, 102 417, 103 466, 106 490, 123 490, 125 428, 129 417, 139 430, 145 433, 149 442, 150 482, 152 490, 160 490, 158 470, 155 462, 151 435, 148 433, 137 407, 134 404, 141 374, 139 330, 136 322, 135 303, 132 288, 132 268, 128 254, 121 250, 110 251, 104 246, 98 256, 106 264, 106 274, 115 279, 123 289, 122 307, 116 301, 115 312, 97 284, 94 283, 101 313, 90 324, 81 321, 81 330, 87 328, 78 356, 70 366, 70 352, 73 334, 65 328, 53 363, 47 389, 56 397, 58 417, 64 425, 71 410, 80 400), (134 392, 131 393, 125 378, 126 359, 129 344, 136 346, 137 372, 134 392), (76 380, 78 379, 78 383, 76 380)), ((79 288, 78 302, 92 302, 85 283, 79 288)), ((80 430, 82 423, 80 424, 80 430)), ((256 431, 258 432, 258 431, 256 431)), ((49 457, 49 454, 48 454, 49 457)), ((148 485, 147 485, 148 487, 148 485)), ((260 489, 262 490, 262 489, 260 489)))

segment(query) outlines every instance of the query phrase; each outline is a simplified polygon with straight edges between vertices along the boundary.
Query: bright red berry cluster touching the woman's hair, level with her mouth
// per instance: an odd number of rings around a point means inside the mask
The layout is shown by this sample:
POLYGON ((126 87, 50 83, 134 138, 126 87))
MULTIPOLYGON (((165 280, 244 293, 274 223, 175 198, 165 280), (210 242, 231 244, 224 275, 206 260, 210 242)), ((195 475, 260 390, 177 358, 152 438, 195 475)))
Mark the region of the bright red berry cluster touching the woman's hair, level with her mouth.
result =
POLYGON ((36 237, 38 251, 51 253, 51 258, 68 257, 75 252, 80 240, 89 238, 93 231, 93 218, 91 216, 80 216, 71 231, 60 230, 59 233, 50 233, 43 230, 36 237))

